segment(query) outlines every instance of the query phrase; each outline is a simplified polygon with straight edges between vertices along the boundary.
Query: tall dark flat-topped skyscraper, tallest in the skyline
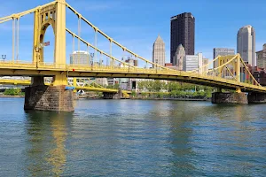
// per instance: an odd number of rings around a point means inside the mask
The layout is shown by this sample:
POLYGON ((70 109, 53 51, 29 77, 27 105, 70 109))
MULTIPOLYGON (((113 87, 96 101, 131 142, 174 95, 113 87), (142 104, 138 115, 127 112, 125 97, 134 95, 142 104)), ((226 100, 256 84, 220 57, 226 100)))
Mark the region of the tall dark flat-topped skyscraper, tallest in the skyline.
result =
POLYGON ((171 18, 171 63, 179 44, 184 46, 186 55, 194 55, 195 18, 191 12, 184 12, 171 18))

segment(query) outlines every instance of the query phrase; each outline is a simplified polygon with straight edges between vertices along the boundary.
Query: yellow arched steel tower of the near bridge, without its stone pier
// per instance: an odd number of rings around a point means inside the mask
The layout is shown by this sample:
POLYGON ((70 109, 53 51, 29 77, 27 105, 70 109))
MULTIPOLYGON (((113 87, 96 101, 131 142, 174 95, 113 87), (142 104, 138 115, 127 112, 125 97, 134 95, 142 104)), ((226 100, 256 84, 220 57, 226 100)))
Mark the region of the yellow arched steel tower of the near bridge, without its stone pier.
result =
MULTIPOLYGON (((57 0, 54 4, 38 8, 34 19, 33 61, 43 64, 43 39, 46 29, 51 26, 55 38, 54 64, 66 65, 66 0, 57 0)), ((66 73, 54 76, 53 85, 66 85, 66 73)))

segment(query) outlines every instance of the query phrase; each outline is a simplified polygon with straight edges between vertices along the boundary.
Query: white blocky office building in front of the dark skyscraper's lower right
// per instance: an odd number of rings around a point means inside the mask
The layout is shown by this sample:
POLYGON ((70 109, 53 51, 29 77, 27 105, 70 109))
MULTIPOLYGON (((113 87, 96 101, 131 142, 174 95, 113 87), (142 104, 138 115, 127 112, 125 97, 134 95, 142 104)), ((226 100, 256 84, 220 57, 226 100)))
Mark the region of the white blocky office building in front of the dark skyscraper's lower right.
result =
MULTIPOLYGON (((183 62, 183 71, 194 71, 202 67, 202 53, 186 55, 183 62)), ((202 73, 200 70, 199 73, 202 73)))

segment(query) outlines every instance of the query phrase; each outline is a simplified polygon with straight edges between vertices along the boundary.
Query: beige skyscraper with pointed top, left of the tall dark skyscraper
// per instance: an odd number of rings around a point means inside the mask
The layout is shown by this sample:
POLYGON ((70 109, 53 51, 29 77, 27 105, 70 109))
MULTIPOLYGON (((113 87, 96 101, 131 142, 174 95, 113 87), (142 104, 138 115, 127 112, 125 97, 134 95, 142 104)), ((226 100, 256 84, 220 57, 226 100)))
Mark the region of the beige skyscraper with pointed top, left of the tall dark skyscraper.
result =
POLYGON ((156 41, 153 43, 153 63, 162 66, 165 64, 165 43, 162 41, 160 35, 158 35, 156 41))

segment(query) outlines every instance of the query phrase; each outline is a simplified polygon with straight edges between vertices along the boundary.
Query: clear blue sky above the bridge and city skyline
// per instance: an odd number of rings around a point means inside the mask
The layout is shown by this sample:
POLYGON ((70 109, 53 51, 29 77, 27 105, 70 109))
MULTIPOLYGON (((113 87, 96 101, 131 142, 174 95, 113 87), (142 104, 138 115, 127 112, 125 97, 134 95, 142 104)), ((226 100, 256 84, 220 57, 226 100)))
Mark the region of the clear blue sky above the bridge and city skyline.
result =
MULTIPOLYGON (((22 12, 51 0, 11 0, 0 6, 0 16, 22 12), (23 2, 23 3, 21 3, 23 2)), ((140 56, 152 59, 153 42, 160 34, 166 43, 166 62, 169 62, 170 17, 182 12, 192 12, 196 19, 195 52, 203 52, 205 58, 213 58, 213 48, 236 49, 237 33, 240 27, 252 25, 256 34, 256 50, 262 50, 266 42, 265 0, 66 0, 95 26, 114 40, 135 51, 140 56)), ((66 26, 77 32, 77 19, 66 12, 66 26)), ((33 15, 20 20, 20 59, 30 60, 32 56, 33 15)), ((82 23, 82 37, 93 43, 90 27, 82 23)), ((72 40, 66 35, 66 56, 72 52, 72 40)), ((51 46, 45 48, 44 61, 53 60, 53 35, 49 27, 45 41, 51 46)), ((77 43, 77 42, 75 42, 77 43)), ((108 42, 99 37, 98 47, 108 52, 108 42)), ((83 50, 85 47, 82 46, 83 50)), ((77 50, 77 47, 76 49, 77 50)), ((121 50, 113 48, 114 56, 121 58, 121 50)), ((12 23, 0 24, 0 55, 12 58, 12 23)), ((68 59, 67 59, 68 60, 68 59)))

